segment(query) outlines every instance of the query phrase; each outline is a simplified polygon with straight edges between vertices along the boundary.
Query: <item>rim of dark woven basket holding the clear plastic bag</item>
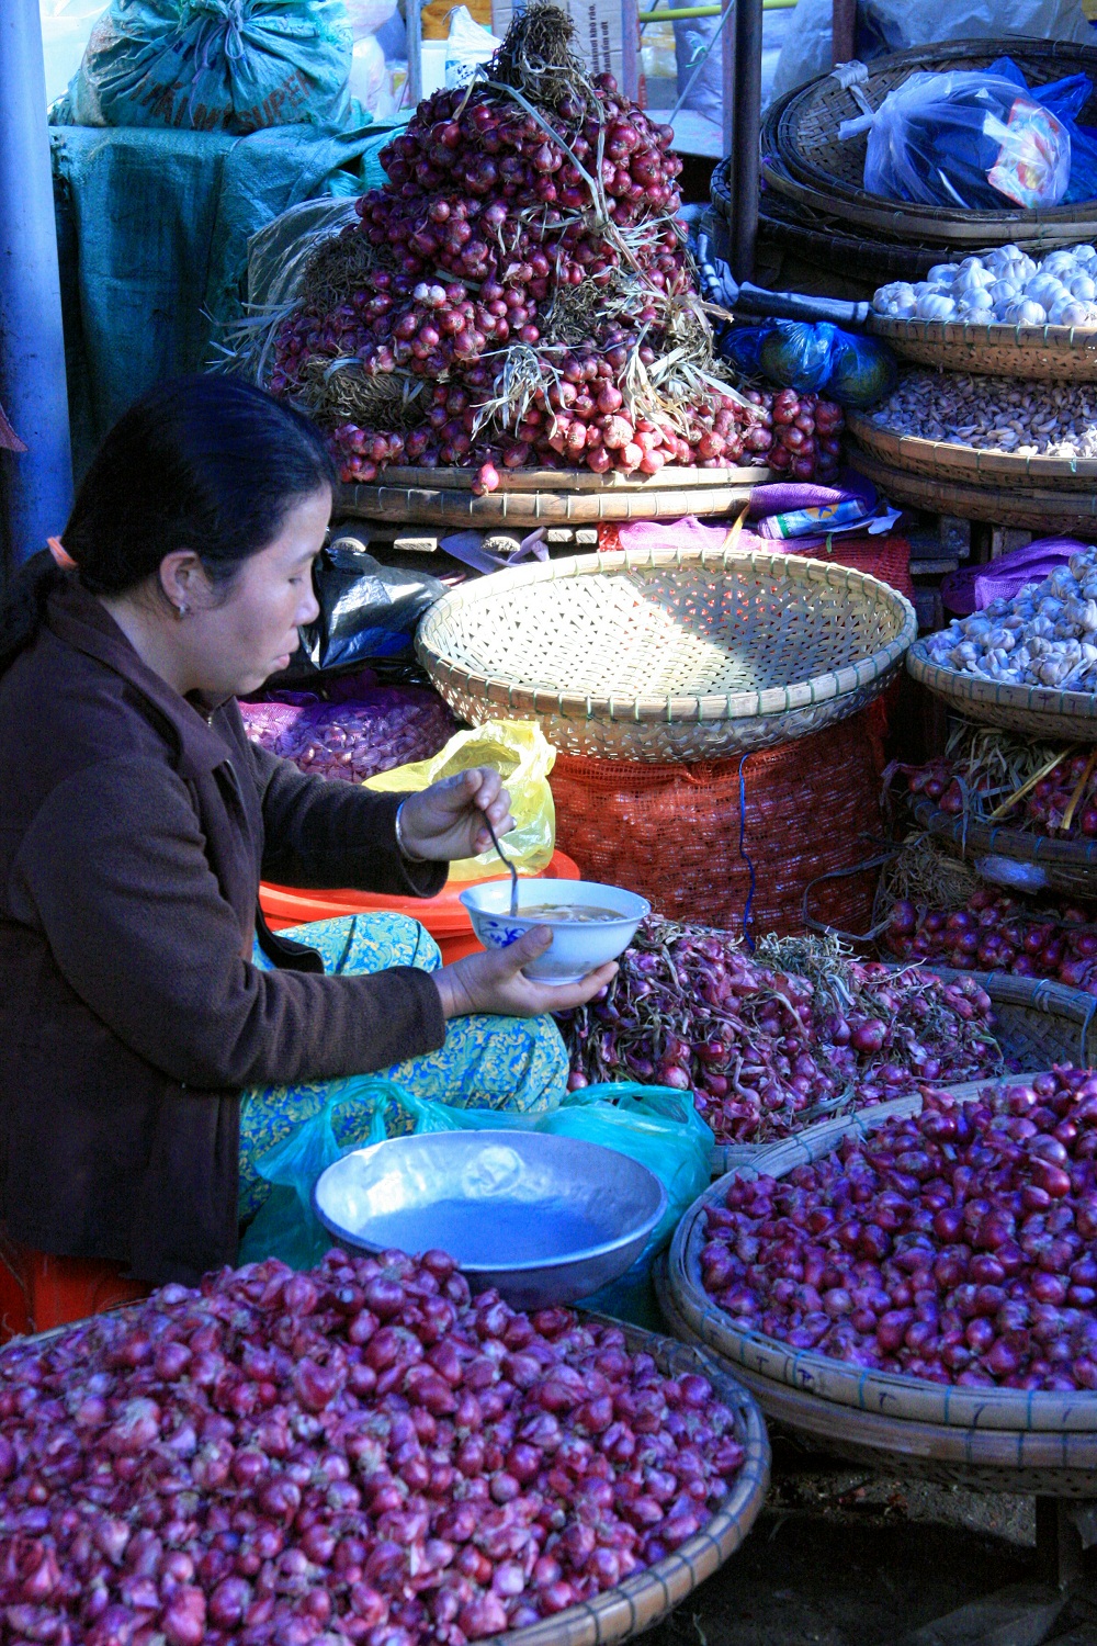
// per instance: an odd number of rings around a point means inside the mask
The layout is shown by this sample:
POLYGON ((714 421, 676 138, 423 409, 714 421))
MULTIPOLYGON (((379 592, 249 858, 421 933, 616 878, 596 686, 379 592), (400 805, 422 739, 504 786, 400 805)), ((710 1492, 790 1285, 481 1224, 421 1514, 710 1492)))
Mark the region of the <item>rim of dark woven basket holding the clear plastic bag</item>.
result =
MULTIPOLYGON (((1062 66, 1069 63, 1074 66, 1074 72, 1079 69, 1097 69, 1097 46, 1089 46, 1074 41, 1048 41, 1038 36, 1018 35, 1008 40, 1008 54, 1011 58, 1028 58, 1039 59, 1044 63, 1054 63, 1062 66)), ((1002 43, 988 40, 956 40, 941 43, 939 46, 911 46, 906 51, 890 53, 888 56, 873 58, 872 63, 863 64, 865 76, 859 82, 862 87, 868 87, 873 79, 882 76, 890 76, 895 71, 916 69, 939 71, 942 66, 956 66, 957 63, 972 63, 975 58, 987 58, 995 61, 1002 56, 1002 43), (998 49, 995 49, 995 44, 998 49)), ((842 67, 849 69, 849 64, 842 67)), ((837 86, 844 87, 847 84, 845 76, 839 71, 831 71, 829 74, 816 76, 808 81, 806 86, 796 86, 781 97, 763 127, 763 135, 768 143, 773 145, 776 155, 789 168, 793 176, 803 179, 806 184, 814 188, 822 188, 826 193, 832 193, 850 202, 872 202, 885 201, 886 196, 870 194, 867 189, 852 189, 849 184, 842 183, 840 178, 832 176, 822 166, 812 165, 801 150, 798 135, 789 130, 793 122, 803 119, 809 109, 814 109, 817 99, 826 91, 827 81, 834 81, 837 86)), ((965 219, 977 219, 988 226, 1000 224, 1003 227, 1013 227, 1023 222, 1039 224, 1077 224, 1082 219, 1077 216, 1079 207, 1092 207, 1094 201, 1076 201, 1071 206, 1048 206, 1036 209, 1016 207, 1013 211, 962 211, 956 206, 921 206, 914 202, 914 211, 911 217, 918 216, 928 222, 962 222, 965 219)), ((975 226, 977 232, 977 226, 975 226)))

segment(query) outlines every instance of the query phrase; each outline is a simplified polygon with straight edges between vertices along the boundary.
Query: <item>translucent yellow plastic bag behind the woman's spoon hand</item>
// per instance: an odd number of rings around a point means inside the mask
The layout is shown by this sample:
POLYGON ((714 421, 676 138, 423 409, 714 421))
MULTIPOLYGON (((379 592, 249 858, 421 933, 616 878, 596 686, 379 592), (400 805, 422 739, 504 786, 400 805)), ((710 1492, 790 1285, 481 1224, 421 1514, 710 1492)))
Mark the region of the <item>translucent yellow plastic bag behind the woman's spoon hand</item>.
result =
MULTIPOLYGON (((503 835, 503 851, 521 874, 546 869, 556 849, 556 808, 548 774, 556 749, 546 742, 536 721, 488 721, 472 731, 459 731, 429 760, 398 765, 391 772, 368 777, 367 788, 429 788, 442 777, 456 777, 474 765, 493 765, 510 790, 515 828, 503 835)), ((503 869, 495 851, 451 863, 451 881, 484 881, 503 869)))

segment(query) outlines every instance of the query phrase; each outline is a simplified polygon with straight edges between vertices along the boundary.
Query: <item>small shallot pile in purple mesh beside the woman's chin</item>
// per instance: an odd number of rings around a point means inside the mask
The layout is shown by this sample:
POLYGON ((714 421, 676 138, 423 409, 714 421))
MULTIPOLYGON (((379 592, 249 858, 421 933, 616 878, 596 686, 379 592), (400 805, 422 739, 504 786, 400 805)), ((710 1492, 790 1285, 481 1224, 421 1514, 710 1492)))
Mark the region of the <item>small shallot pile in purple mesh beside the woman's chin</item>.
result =
POLYGON ((242 703, 240 713, 248 736, 271 754, 303 772, 352 783, 428 760, 457 731, 446 703, 423 686, 365 688, 363 701, 298 709, 242 703))

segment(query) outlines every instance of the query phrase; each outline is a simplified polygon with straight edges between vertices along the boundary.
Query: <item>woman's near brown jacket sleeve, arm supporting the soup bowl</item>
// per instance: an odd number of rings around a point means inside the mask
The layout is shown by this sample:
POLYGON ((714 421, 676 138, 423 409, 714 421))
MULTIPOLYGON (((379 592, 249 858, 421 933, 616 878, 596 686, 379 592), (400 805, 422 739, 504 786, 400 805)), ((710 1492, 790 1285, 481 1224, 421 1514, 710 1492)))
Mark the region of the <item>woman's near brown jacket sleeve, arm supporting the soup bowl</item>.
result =
POLYGON ((331 1080, 436 1050, 429 973, 262 971, 209 867, 186 783, 122 757, 59 783, 10 879, 74 993, 174 1080, 247 1088, 331 1080))

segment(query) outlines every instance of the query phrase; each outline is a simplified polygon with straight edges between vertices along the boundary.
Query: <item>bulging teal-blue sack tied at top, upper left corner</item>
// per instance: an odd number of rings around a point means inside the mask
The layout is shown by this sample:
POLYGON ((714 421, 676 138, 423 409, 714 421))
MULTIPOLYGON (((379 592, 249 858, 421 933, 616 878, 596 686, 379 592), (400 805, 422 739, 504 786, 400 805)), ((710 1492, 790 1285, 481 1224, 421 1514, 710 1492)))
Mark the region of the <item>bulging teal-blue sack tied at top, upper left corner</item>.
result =
POLYGON ((342 128, 352 58, 344 0, 113 0, 69 104, 76 125, 342 128))

